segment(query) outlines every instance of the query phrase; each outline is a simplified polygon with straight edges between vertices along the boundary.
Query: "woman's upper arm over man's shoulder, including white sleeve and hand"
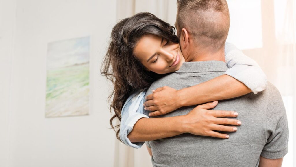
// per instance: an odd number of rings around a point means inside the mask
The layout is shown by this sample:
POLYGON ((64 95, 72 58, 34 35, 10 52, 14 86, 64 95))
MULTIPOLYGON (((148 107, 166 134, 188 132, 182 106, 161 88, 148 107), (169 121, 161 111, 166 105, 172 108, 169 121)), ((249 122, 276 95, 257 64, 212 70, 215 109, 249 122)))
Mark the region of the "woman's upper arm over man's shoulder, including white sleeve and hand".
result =
POLYGON ((150 116, 166 114, 182 106, 230 99, 266 89, 266 75, 254 60, 229 43, 225 46, 225 53, 229 70, 224 75, 181 90, 165 86, 149 94, 144 105, 146 110, 154 111, 150 116))

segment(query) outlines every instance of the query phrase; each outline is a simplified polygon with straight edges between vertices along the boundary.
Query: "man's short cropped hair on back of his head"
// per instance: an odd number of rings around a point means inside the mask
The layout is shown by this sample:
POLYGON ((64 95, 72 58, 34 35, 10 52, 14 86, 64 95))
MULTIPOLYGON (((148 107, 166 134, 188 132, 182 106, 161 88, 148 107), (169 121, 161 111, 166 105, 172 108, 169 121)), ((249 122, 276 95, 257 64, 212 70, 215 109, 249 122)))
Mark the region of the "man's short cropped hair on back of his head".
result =
POLYGON ((226 0, 177 0, 177 30, 185 28, 198 45, 219 50, 225 45, 230 19, 226 0))

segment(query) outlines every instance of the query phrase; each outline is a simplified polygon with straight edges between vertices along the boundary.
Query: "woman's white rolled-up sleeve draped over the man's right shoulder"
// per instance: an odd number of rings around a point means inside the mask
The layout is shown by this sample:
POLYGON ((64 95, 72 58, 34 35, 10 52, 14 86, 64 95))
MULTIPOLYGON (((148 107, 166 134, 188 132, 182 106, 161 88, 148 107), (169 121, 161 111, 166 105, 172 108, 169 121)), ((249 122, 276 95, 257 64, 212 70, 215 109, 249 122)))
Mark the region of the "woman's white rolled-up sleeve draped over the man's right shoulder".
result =
POLYGON ((225 74, 244 83, 254 94, 266 89, 266 75, 255 60, 228 42, 225 44, 225 61, 229 68, 225 74))

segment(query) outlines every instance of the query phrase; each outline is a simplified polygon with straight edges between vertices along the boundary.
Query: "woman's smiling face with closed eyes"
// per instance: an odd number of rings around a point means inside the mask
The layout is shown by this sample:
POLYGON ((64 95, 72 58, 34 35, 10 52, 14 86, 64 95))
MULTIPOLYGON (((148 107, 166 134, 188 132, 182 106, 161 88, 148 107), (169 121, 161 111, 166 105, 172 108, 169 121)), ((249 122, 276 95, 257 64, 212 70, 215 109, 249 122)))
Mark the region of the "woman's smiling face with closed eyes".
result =
POLYGON ((144 35, 133 53, 148 71, 157 74, 175 72, 185 62, 179 44, 152 34, 144 35))

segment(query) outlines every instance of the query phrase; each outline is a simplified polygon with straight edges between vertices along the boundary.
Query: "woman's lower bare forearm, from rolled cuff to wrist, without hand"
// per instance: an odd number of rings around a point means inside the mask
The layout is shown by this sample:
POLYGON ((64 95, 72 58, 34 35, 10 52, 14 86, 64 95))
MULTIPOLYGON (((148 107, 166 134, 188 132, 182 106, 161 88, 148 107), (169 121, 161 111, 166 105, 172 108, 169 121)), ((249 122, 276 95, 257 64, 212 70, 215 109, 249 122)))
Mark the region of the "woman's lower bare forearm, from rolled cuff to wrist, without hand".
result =
POLYGON ((157 140, 185 133, 183 116, 141 118, 128 134, 132 143, 157 140))

